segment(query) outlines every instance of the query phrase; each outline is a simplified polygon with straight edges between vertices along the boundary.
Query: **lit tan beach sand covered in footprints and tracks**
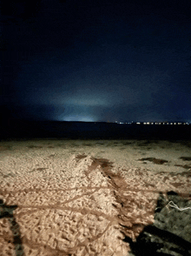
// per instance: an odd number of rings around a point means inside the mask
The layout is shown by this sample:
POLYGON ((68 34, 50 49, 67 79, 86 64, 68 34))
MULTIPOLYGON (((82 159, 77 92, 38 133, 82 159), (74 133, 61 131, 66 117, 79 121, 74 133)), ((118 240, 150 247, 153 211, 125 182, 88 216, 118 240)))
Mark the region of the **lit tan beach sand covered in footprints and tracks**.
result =
POLYGON ((191 142, 2 141, 0 255, 128 256, 168 191, 191 199, 191 142))

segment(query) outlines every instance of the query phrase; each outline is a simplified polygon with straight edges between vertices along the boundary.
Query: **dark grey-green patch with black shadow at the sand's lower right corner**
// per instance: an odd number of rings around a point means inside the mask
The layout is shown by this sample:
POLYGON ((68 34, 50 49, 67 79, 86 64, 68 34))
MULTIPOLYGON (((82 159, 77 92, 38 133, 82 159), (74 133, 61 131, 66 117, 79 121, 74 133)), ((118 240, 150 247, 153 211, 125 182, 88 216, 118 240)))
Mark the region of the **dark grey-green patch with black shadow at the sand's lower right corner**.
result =
POLYGON ((188 226, 191 226, 190 202, 181 199, 176 192, 168 192, 167 195, 168 200, 160 193, 155 208, 155 223, 145 226, 135 242, 128 236, 123 239, 131 248, 130 255, 191 255, 191 232, 187 232, 188 226), (185 211, 176 207, 169 210, 167 206, 172 200, 177 205, 183 205, 185 211))

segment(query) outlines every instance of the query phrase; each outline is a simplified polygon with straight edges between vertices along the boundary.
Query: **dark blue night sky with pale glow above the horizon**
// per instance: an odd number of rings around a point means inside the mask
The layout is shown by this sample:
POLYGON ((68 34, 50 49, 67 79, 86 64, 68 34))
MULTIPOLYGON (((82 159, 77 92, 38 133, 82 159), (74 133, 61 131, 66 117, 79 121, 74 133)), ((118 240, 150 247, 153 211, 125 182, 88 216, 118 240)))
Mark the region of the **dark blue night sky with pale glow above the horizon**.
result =
POLYGON ((191 122, 191 1, 1 6, 3 118, 191 122))

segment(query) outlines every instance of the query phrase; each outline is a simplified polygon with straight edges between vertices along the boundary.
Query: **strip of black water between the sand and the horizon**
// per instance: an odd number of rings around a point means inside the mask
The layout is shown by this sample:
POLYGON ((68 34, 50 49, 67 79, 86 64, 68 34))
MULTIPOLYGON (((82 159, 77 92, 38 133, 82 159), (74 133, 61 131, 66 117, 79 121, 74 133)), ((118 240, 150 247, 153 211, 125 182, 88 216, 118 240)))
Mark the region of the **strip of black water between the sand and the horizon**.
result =
POLYGON ((191 125, 121 125, 94 122, 11 120, 0 126, 0 139, 7 138, 191 140, 191 125))

